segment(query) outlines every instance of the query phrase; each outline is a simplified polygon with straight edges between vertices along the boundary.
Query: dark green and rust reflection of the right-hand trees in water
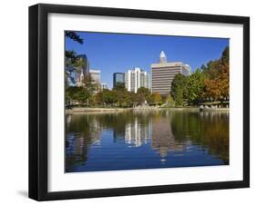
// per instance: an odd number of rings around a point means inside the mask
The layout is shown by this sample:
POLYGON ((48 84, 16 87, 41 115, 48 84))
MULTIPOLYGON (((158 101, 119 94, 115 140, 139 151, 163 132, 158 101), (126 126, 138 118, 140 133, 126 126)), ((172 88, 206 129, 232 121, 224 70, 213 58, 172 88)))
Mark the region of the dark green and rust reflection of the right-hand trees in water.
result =
POLYGON ((228 112, 173 112, 171 129, 175 140, 190 140, 229 164, 228 112))

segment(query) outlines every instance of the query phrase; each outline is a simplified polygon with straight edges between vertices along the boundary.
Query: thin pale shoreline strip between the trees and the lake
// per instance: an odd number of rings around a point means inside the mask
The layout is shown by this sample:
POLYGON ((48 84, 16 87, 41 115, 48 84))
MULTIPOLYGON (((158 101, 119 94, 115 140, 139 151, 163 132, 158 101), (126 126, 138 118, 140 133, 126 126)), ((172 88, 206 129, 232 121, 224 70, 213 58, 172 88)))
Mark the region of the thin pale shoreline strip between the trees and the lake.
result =
POLYGON ((160 107, 136 107, 136 108, 90 108, 90 107, 77 107, 72 109, 65 109, 66 114, 76 113, 108 113, 108 112, 125 112, 125 111, 189 111, 189 112, 230 112, 229 108, 204 108, 200 111, 200 107, 173 107, 173 108, 160 108, 160 107))

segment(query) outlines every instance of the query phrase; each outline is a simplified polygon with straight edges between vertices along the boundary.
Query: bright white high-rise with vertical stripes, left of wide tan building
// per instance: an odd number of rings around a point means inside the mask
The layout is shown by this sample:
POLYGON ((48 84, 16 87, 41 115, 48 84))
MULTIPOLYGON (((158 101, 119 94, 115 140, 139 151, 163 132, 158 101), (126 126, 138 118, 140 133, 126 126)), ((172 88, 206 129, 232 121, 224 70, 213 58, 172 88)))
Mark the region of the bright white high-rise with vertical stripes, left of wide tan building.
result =
POLYGON ((149 74, 140 68, 128 70, 128 72, 125 73, 125 86, 129 92, 133 93, 137 93, 140 87, 150 89, 149 74))

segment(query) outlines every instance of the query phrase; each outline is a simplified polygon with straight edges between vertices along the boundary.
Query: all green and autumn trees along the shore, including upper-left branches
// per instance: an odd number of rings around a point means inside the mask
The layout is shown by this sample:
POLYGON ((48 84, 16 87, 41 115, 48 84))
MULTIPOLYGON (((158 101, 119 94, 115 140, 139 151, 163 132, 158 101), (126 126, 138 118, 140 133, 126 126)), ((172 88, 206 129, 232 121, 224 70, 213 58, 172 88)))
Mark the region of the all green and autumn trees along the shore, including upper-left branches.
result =
MULTIPOLYGON (((66 37, 83 44, 83 39, 74 32, 67 32, 66 37)), ((85 62, 74 51, 66 51, 66 103, 79 106, 97 107, 133 107, 147 102, 149 105, 197 106, 207 102, 229 101, 229 47, 226 47, 218 60, 202 65, 189 76, 177 74, 171 83, 167 96, 150 93, 148 88, 140 87, 137 93, 128 92, 123 83, 112 90, 100 89, 88 74, 83 79, 83 86, 71 86, 67 68, 72 66, 81 72, 85 62)))

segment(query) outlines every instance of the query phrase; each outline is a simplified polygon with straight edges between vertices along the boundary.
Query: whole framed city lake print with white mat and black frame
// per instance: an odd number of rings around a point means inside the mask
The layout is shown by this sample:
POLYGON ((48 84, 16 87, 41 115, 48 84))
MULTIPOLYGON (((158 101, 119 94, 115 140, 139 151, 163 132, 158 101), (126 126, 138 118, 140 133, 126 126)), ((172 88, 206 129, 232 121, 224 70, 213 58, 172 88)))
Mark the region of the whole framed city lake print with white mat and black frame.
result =
POLYGON ((29 197, 250 185, 250 19, 29 7, 29 197))

